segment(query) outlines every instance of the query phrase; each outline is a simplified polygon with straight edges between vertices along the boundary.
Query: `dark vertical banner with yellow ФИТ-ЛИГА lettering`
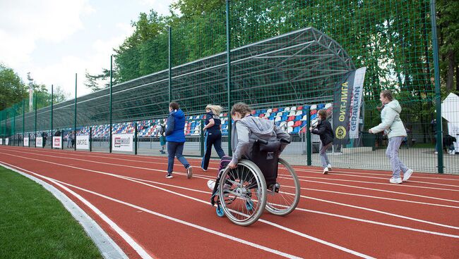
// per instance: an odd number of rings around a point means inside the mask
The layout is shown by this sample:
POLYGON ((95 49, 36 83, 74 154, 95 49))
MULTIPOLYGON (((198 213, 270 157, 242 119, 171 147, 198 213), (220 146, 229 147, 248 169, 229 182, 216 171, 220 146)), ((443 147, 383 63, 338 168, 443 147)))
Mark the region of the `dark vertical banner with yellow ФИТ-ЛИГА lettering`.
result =
POLYGON ((352 99, 352 85, 354 84, 355 70, 347 72, 343 80, 335 85, 333 96, 333 127, 335 139, 333 144, 344 145, 349 143, 349 120, 352 99))

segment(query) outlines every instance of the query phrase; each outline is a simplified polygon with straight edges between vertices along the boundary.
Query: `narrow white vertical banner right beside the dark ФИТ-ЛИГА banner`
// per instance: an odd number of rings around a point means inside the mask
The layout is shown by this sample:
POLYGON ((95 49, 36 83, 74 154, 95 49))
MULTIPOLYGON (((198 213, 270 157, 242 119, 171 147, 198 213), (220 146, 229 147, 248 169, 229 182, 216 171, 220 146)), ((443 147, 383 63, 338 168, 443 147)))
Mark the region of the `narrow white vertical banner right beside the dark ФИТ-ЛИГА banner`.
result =
POLYGON ((355 70, 354 84, 352 86, 352 99, 350 110, 350 130, 349 137, 351 139, 359 138, 359 122, 360 122, 360 106, 362 106, 362 95, 364 91, 366 67, 355 70))

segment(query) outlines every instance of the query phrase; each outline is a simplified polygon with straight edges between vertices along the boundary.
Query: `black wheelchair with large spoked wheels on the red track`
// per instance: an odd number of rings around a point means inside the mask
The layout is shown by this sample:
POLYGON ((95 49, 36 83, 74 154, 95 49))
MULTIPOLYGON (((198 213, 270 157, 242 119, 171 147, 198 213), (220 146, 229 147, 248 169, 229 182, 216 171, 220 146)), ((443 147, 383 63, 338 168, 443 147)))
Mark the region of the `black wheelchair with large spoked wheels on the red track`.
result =
POLYGON ((217 216, 249 226, 265 208, 274 215, 292 213, 299 202, 299 180, 292 166, 278 158, 279 146, 258 139, 250 159, 239 160, 237 168, 220 170, 210 198, 212 206, 217 205, 217 216))

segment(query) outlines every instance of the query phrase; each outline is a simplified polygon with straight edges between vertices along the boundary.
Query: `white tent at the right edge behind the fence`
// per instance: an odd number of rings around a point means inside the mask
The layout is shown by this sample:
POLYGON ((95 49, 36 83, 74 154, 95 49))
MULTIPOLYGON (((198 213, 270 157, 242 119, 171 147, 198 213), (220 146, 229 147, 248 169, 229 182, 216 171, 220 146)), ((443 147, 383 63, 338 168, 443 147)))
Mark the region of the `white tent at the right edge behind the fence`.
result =
POLYGON ((441 103, 441 117, 448 121, 448 134, 456 138, 455 152, 459 152, 459 96, 451 93, 441 103))

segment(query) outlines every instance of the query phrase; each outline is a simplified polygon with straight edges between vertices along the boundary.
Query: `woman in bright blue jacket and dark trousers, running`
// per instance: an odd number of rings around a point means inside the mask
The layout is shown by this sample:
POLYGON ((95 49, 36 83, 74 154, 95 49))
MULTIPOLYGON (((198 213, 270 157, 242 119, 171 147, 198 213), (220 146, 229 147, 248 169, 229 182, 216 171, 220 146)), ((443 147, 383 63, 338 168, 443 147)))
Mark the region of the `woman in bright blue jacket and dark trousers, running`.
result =
POLYGON ((166 126, 166 141, 167 141, 167 175, 166 178, 173 178, 172 171, 174 170, 174 157, 177 159, 186 169, 186 177, 191 178, 193 175, 193 168, 188 163, 186 158, 182 155, 185 144, 185 114, 179 109, 178 103, 169 104, 169 117, 167 117, 166 126))

